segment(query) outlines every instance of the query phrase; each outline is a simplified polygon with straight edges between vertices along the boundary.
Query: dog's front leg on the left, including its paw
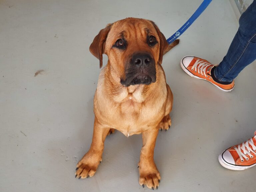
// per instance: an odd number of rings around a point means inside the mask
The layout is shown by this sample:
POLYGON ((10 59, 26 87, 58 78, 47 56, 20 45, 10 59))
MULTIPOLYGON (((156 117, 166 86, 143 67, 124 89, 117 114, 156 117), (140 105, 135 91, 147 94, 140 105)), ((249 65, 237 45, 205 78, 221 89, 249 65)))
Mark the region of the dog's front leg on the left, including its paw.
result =
POLYGON ((104 141, 109 130, 110 128, 103 127, 99 124, 95 117, 91 147, 76 165, 76 177, 79 179, 92 177, 95 174, 96 169, 101 162, 104 141))

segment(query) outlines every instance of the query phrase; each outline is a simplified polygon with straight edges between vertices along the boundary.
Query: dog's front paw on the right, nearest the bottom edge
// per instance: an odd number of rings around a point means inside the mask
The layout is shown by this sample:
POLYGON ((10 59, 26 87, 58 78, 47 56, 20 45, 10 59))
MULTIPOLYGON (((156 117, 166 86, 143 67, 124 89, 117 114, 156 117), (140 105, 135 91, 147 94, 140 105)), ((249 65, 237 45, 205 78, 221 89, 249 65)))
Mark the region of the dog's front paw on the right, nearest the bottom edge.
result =
POLYGON ((157 168, 146 168, 144 170, 143 167, 139 167, 140 169, 140 178, 139 178, 139 184, 142 185, 144 188, 145 185, 149 189, 158 189, 158 186, 160 184, 161 176, 158 172, 157 168))

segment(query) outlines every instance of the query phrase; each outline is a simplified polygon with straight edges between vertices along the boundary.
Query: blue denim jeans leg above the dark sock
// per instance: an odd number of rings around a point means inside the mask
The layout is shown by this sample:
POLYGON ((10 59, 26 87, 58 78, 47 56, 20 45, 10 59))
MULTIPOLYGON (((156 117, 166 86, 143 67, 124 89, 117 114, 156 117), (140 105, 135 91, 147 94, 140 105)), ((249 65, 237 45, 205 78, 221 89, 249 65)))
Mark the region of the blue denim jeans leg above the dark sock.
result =
POLYGON ((233 79, 256 59, 256 0, 239 19, 239 29, 226 56, 215 68, 214 75, 219 81, 233 79))

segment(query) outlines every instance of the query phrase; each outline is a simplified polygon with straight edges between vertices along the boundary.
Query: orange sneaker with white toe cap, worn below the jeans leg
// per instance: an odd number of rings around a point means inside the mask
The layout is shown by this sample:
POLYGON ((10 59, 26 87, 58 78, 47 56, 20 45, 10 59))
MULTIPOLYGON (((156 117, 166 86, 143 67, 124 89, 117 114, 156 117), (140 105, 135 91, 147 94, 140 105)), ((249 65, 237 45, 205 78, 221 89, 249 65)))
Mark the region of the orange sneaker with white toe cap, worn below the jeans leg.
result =
POLYGON ((211 64, 209 61, 194 57, 194 56, 185 56, 180 61, 181 68, 191 77, 197 78, 197 79, 204 79, 206 81, 209 81, 216 87, 218 87, 220 90, 225 92, 230 92, 235 87, 234 80, 231 83, 223 82, 223 84, 216 82, 214 77, 211 75, 211 70, 214 67, 213 64, 211 64))

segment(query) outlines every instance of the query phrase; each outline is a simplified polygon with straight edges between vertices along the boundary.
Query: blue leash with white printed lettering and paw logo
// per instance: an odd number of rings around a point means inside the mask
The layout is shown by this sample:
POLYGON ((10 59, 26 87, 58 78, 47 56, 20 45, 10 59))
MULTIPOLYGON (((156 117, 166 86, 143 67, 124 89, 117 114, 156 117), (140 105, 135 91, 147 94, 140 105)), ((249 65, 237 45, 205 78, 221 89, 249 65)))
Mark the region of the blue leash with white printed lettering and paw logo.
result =
POLYGON ((184 31, 186 31, 189 26, 203 13, 203 11, 208 7, 212 0, 204 0, 201 5, 197 8, 195 13, 187 20, 187 22, 182 25, 182 27, 176 31, 169 39, 167 39, 168 44, 171 44, 177 37, 179 37, 184 31))

